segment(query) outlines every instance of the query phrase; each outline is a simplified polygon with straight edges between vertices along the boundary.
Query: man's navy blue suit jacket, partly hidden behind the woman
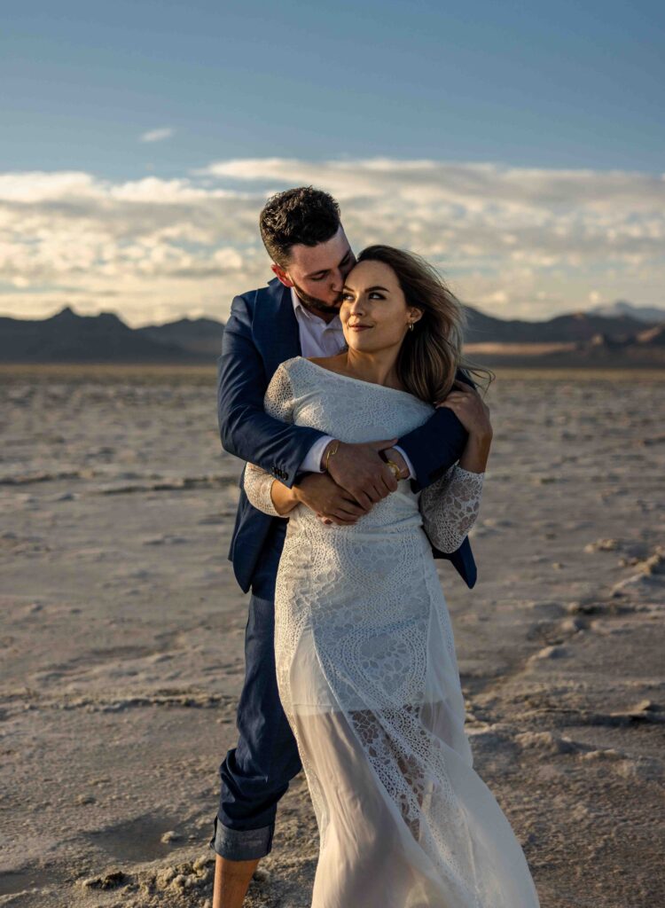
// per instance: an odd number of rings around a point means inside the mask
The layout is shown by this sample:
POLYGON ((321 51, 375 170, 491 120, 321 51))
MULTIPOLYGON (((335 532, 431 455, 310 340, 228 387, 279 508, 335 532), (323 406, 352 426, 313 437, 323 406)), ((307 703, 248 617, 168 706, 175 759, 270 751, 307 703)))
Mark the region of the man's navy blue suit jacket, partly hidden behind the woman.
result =
MULTIPOLYGON (((267 287, 236 296, 223 332, 217 360, 217 417, 223 449, 257 464, 291 488, 300 464, 318 429, 273 419, 263 410, 263 396, 273 373, 284 360, 301 355, 298 321, 291 291, 274 278, 267 287)), ((459 379, 473 385, 462 370, 459 379)), ((442 407, 423 426, 399 440, 412 462, 414 491, 422 489, 462 456, 468 433, 448 407, 442 407)), ((287 518, 275 518, 253 508, 243 490, 233 528, 229 558, 244 592, 252 585, 271 530, 278 533, 287 518)), ((451 553, 432 548, 435 558, 448 558, 465 583, 473 587, 476 566, 469 538, 451 553)))

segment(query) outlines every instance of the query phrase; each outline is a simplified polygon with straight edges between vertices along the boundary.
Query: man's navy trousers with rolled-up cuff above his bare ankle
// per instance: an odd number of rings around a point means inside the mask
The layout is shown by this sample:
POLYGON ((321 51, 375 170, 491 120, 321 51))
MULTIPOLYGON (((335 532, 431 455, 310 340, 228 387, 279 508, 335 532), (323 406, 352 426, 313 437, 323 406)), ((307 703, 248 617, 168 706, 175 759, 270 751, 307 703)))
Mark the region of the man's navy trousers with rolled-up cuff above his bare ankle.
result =
POLYGON ((274 663, 274 582, 285 528, 285 521, 275 521, 253 578, 236 721, 238 743, 219 767, 222 788, 210 847, 232 861, 270 852, 277 802, 302 768, 277 690, 274 663))

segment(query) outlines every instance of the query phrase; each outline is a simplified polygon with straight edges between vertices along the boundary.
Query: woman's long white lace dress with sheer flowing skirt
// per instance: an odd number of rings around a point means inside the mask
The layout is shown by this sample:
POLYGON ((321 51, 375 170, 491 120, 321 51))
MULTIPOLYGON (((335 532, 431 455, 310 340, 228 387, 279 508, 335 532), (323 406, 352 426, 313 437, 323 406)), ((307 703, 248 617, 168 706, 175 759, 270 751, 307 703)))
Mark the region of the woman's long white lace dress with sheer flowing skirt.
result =
MULTIPOLYGON (((265 410, 349 442, 398 438, 433 412, 302 357, 275 372, 265 410)), ((483 476, 455 465, 420 494, 403 480, 352 527, 324 525, 302 505, 290 514, 275 656, 321 838, 313 908, 539 905, 521 845, 472 768, 425 535, 459 548, 483 476)), ((247 495, 270 514, 273 481, 247 465, 247 495)))

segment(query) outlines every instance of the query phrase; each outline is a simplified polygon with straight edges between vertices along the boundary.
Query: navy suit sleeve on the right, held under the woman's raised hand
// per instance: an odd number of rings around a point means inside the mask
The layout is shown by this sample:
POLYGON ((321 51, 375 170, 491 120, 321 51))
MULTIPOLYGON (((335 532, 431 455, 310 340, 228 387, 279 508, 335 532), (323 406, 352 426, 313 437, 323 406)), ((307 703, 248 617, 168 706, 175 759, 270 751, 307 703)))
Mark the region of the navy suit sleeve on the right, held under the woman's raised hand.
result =
MULTIPOLYGON (((463 370, 457 370, 457 378, 475 388, 463 370)), ((415 472, 412 489, 426 489, 442 477, 462 457, 468 439, 469 433, 450 407, 440 407, 422 426, 399 439, 415 472)))

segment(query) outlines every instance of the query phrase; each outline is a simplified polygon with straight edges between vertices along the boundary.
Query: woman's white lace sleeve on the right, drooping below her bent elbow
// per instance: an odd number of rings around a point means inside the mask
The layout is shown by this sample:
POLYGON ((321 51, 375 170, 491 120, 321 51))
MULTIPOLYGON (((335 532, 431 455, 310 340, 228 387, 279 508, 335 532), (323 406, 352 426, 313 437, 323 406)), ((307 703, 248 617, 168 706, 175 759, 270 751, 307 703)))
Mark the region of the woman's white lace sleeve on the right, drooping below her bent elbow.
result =
POLYGON ((422 489, 422 527, 435 548, 454 552, 469 535, 481 509, 484 476, 453 464, 441 479, 422 489))

